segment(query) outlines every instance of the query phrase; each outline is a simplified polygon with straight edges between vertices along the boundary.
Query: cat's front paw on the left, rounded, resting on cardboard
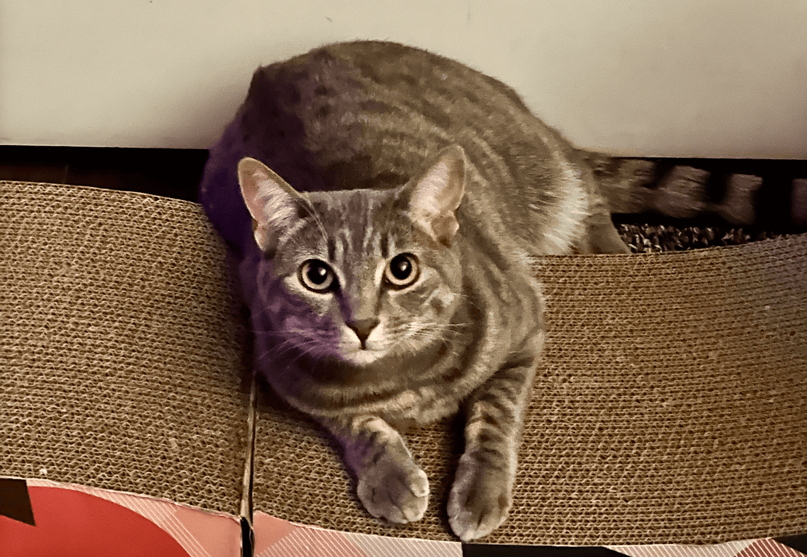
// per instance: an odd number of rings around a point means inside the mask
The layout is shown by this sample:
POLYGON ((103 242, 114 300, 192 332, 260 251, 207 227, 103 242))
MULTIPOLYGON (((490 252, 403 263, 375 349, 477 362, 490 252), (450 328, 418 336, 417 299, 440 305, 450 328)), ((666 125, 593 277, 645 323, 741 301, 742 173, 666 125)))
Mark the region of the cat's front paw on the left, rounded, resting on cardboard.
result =
POLYGON ((429 505, 429 480, 411 460, 389 456, 368 467, 358 480, 358 498, 376 518, 406 524, 420 520, 429 505))

